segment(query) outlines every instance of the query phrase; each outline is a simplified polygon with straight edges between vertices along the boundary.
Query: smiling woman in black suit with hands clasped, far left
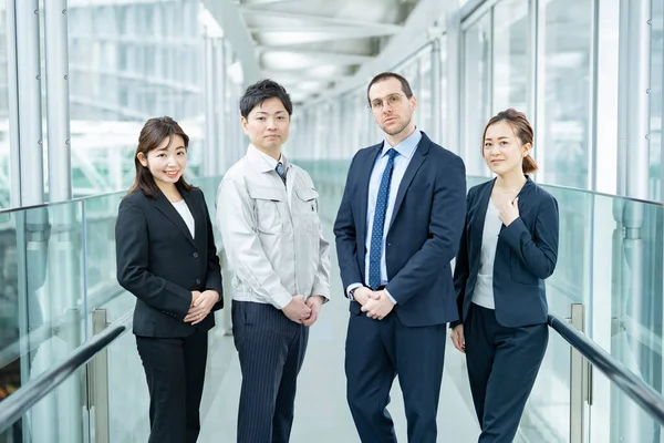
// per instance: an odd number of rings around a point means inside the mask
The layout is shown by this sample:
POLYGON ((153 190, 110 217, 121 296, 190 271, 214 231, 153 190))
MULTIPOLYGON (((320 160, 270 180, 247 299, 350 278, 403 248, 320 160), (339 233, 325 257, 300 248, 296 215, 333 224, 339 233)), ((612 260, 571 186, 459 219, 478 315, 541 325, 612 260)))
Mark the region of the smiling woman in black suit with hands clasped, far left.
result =
POLYGON ((117 280, 136 296, 134 334, 149 390, 149 442, 196 442, 210 312, 221 270, 203 192, 183 176, 189 137, 170 117, 138 137, 136 179, 115 225, 117 280))

